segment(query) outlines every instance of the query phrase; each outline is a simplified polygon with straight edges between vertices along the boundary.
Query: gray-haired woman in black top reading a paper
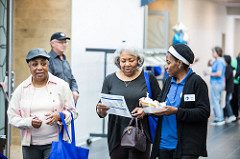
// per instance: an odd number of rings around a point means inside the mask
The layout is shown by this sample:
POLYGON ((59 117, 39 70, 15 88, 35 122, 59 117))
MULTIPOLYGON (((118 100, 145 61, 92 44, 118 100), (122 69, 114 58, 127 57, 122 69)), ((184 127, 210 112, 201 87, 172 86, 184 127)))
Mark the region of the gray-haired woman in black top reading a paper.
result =
MULTIPOLYGON (((139 99, 146 97, 148 92, 144 71, 141 69, 143 58, 138 54, 136 49, 123 48, 115 58, 115 64, 118 71, 108 75, 103 83, 102 93, 115 94, 124 96, 129 111, 133 115, 138 115, 142 122, 144 132, 148 138, 147 150, 140 152, 135 149, 126 149, 120 145, 123 130, 128 126, 130 118, 109 114, 108 116, 108 148, 111 159, 148 159, 150 156, 150 137, 148 118, 145 113, 135 113, 139 108, 139 99)), ((157 79, 149 74, 149 82, 152 89, 153 99, 160 95, 160 88, 157 79)), ((104 118, 107 115, 109 107, 99 102, 96 111, 99 117, 104 118)))

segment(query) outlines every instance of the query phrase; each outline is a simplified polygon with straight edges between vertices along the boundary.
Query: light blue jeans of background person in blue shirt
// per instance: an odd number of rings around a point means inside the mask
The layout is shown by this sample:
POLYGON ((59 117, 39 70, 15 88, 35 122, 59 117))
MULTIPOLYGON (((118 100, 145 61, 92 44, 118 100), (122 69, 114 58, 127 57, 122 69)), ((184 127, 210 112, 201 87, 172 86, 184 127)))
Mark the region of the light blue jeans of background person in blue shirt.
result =
POLYGON ((211 84, 211 106, 213 108, 215 119, 214 121, 223 121, 223 109, 221 107, 221 94, 224 90, 224 85, 211 84))

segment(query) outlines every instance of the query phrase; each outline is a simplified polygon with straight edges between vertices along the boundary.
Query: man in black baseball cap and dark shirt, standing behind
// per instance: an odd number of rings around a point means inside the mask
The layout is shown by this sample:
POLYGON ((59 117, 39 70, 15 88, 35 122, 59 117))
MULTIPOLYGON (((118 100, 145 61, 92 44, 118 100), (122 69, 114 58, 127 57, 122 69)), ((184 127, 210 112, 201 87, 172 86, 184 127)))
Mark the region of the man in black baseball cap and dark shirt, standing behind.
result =
POLYGON ((76 104, 79 98, 78 85, 72 74, 70 64, 64 55, 68 44, 67 40, 70 40, 70 38, 62 32, 52 34, 50 38, 51 51, 49 52, 49 72, 69 84, 76 104))

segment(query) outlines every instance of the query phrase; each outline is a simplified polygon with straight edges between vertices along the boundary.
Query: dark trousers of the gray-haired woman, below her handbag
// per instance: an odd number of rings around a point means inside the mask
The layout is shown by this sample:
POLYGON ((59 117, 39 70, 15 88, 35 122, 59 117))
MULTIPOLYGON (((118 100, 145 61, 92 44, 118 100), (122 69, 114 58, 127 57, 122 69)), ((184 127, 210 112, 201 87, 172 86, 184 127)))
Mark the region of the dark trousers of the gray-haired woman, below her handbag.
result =
POLYGON ((141 152, 134 149, 123 148, 121 145, 117 146, 110 153, 111 159, 149 159, 150 158, 150 143, 147 142, 147 149, 141 152))

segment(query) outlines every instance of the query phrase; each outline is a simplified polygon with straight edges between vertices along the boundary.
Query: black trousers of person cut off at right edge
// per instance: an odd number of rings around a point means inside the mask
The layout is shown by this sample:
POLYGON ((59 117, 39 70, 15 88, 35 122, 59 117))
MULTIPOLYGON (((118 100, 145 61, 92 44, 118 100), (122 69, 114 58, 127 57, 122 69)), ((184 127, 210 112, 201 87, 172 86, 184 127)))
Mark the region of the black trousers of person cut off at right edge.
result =
POLYGON ((240 106, 240 84, 234 84, 233 97, 231 101, 233 114, 238 117, 238 109, 240 106))

